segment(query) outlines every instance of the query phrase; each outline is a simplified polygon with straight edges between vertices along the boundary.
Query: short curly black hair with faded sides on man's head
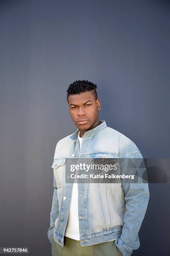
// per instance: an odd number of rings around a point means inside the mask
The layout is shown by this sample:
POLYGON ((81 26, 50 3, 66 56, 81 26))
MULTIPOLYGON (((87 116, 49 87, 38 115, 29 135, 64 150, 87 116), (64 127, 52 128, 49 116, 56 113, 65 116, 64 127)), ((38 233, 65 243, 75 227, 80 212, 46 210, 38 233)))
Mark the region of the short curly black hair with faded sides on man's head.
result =
POLYGON ((68 97, 70 95, 74 94, 80 94, 80 92, 85 92, 85 91, 91 91, 93 90, 93 94, 95 96, 95 99, 97 100, 97 85, 93 84, 92 82, 89 82, 88 80, 76 80, 72 84, 69 85, 67 89, 67 102, 68 102, 68 97))

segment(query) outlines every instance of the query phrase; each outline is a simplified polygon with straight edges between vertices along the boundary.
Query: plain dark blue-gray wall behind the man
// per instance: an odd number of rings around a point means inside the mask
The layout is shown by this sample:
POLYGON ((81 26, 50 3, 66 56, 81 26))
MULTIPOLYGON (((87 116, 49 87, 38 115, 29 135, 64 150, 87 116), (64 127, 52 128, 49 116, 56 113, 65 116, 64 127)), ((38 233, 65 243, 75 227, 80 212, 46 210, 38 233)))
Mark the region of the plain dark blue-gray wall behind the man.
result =
MULTIPOLYGON (((51 166, 57 141, 77 129, 73 81, 97 84, 100 120, 143 157, 170 156, 169 67, 169 1, 0 1, 0 246, 51 255, 51 166)), ((169 255, 170 184, 149 187, 133 255, 169 255)))

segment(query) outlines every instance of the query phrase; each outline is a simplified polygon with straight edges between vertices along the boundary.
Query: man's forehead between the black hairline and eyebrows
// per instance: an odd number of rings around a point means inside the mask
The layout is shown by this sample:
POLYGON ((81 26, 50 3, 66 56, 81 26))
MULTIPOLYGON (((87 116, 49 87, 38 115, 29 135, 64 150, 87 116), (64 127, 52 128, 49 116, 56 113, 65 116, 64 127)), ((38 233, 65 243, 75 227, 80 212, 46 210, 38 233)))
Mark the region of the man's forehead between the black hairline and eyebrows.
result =
POLYGON ((95 97, 92 94, 92 92, 87 91, 87 92, 80 92, 80 94, 74 94, 70 95, 68 97, 68 103, 74 103, 74 104, 83 104, 87 100, 92 100, 95 101, 95 97))

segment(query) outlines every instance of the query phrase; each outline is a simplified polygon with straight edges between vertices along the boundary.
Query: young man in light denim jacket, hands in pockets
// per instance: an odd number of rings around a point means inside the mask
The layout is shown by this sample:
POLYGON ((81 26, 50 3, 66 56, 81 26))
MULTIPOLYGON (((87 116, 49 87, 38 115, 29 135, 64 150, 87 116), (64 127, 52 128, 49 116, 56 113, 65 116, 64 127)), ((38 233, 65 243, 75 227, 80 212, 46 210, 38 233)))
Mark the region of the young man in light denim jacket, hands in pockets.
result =
POLYGON ((48 229, 52 256, 129 256, 140 246, 138 232, 148 206, 148 183, 65 182, 68 158, 143 158, 133 141, 99 120, 96 88, 92 82, 78 80, 67 90, 77 131, 58 141, 55 148, 48 229))

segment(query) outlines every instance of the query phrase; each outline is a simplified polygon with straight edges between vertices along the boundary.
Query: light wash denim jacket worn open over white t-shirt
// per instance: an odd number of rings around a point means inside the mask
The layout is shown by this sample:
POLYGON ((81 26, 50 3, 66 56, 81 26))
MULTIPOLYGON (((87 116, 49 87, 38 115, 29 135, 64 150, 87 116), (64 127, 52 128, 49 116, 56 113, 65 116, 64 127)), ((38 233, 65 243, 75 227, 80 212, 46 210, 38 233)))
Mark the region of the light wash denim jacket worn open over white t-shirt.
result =
MULTIPOLYGON (((108 127, 104 120, 82 137, 79 149, 78 129, 58 141, 53 168, 51 242, 64 246, 64 234, 69 215, 72 183, 65 183, 67 158, 143 158, 135 143, 122 133, 108 127)), ((123 256, 129 256, 140 246, 138 232, 149 201, 148 183, 78 183, 78 214, 81 246, 90 246, 116 239, 123 256)))

